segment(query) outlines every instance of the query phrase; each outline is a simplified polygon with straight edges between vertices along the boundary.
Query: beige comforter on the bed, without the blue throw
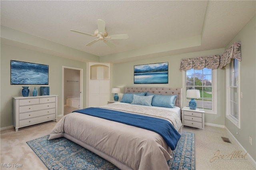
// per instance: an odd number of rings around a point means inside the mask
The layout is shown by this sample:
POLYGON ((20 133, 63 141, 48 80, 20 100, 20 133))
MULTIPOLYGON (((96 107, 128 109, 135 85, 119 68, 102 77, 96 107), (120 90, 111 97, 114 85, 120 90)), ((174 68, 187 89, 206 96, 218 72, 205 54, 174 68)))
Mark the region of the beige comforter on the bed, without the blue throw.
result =
MULTIPOLYGON (((172 113, 172 111, 152 107, 146 109, 138 105, 109 104, 103 107, 149 114, 150 116, 157 115, 168 119, 181 133, 182 123, 176 113, 172 113)), ((153 131, 74 112, 58 121, 50 133, 49 140, 63 137, 64 133, 111 156, 113 160, 118 160, 130 169, 169 169, 167 161, 171 159, 171 149, 164 139, 153 131)), ((109 161, 113 164, 116 162, 109 161)), ((119 164, 115 165, 119 168, 124 167, 119 164)))

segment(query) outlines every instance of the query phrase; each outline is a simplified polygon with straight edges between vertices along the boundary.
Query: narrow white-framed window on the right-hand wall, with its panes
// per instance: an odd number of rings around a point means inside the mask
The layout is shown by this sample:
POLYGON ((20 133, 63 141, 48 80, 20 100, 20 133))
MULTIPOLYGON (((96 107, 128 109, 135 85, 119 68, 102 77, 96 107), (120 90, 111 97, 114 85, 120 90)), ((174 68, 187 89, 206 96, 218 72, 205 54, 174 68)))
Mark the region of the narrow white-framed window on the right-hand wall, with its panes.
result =
POLYGON ((226 117, 240 128, 240 64, 234 59, 226 65, 226 117))

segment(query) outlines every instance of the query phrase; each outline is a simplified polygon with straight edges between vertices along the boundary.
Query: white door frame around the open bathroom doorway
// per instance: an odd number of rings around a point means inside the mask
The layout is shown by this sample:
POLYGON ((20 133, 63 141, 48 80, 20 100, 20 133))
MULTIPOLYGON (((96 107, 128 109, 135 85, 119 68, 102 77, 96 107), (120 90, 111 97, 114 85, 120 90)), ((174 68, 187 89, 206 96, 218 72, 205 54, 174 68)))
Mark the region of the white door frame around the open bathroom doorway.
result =
POLYGON ((73 70, 80 70, 80 109, 83 108, 83 68, 76 68, 76 67, 70 67, 70 66, 62 66, 62 116, 64 115, 64 68, 73 69, 73 70))

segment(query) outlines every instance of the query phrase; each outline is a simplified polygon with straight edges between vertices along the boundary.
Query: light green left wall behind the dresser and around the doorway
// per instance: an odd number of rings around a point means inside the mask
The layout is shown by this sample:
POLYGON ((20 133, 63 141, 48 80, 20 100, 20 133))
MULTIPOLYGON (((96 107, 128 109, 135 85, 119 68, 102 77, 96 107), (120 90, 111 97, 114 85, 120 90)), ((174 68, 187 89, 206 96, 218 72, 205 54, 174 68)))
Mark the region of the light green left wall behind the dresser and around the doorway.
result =
MULTIPOLYGON (((49 85, 50 94, 58 95, 58 115, 62 114, 62 66, 70 66, 84 69, 84 89, 86 89, 86 63, 56 57, 45 53, 12 47, 1 44, 1 108, 0 108, 0 125, 8 127, 13 125, 13 96, 22 96, 21 90, 24 85, 10 85, 10 60, 25 61, 30 63, 49 65, 49 85)), ((36 87, 39 91, 43 85, 28 85, 30 96, 32 90, 36 87)), ((86 90, 84 90, 84 93, 86 90)), ((84 94, 83 105, 86 106, 86 95, 84 94)))

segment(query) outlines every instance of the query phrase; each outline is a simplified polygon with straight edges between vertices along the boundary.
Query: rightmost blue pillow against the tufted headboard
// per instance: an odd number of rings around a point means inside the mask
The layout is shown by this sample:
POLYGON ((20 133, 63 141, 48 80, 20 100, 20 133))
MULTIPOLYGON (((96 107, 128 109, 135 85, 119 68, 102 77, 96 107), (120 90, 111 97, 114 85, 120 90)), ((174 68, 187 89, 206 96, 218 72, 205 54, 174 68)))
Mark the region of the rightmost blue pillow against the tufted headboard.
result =
POLYGON ((175 107, 175 101, 177 98, 177 95, 161 95, 161 94, 151 94, 147 93, 146 96, 152 96, 154 95, 152 99, 152 106, 159 106, 159 107, 175 107))

